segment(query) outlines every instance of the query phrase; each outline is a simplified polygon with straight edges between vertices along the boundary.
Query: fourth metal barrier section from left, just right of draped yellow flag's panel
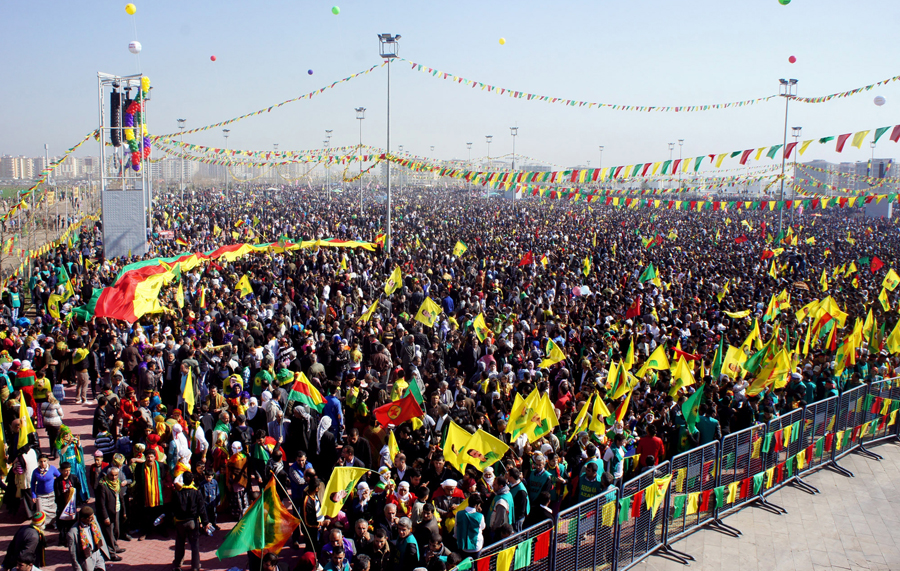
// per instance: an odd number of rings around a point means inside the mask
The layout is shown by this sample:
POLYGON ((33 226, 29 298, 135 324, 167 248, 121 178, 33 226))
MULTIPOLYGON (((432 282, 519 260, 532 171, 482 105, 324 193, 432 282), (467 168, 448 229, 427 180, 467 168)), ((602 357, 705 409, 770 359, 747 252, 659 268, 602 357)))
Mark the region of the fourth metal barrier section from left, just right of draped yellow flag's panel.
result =
POLYGON ((672 480, 666 498, 666 543, 687 535, 715 517, 710 502, 707 500, 704 504, 701 498, 716 487, 719 445, 718 441, 710 442, 672 458, 672 480))

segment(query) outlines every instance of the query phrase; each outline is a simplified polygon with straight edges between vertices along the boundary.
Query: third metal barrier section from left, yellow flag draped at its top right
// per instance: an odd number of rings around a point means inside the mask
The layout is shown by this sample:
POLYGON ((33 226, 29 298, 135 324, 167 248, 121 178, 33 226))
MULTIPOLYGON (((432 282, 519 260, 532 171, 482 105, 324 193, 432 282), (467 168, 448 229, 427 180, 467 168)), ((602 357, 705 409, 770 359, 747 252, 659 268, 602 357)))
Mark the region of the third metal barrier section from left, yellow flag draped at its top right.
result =
MULTIPOLYGON (((619 527, 616 535, 616 569, 628 569, 665 544, 664 510, 657 509, 655 513, 648 510, 645 495, 647 488, 655 480, 669 475, 671 464, 661 462, 655 470, 648 470, 622 485, 619 527)), ((668 486, 665 490, 668 490, 668 486)))

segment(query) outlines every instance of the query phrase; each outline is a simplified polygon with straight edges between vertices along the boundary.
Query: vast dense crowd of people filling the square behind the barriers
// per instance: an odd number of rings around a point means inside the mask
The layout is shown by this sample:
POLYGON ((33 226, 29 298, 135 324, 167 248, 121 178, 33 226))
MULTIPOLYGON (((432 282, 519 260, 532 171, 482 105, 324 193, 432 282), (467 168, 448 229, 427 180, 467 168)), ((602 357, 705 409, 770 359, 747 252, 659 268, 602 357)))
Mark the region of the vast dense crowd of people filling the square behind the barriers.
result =
POLYGON ((10 280, 0 316, 3 503, 29 523, 2 569, 41 567, 52 529, 78 571, 170 531, 173 567, 187 543, 198 570, 200 534, 224 536, 220 523, 240 519, 275 478, 301 524, 281 560, 250 553, 241 568, 284 569, 290 553, 301 571, 443 571, 676 454, 892 376, 897 364, 884 336, 872 335, 835 375, 824 335, 758 394, 740 370, 711 375, 720 347, 753 355, 757 329, 760 345, 802 346, 808 323, 795 312, 825 296, 848 314, 839 338, 870 311, 891 331, 896 300, 887 292, 885 307, 878 298, 900 259, 900 230, 861 209, 786 213, 779 231, 779 212, 768 210, 409 190, 395 198, 388 253, 383 204, 361 209, 359 197, 206 190, 163 196, 155 208, 148 259, 330 237, 376 248, 212 260, 164 287, 164 311, 137 323, 79 310, 136 261, 103 257, 100 223, 10 280), (870 269, 874 258, 882 269, 870 269), (654 278, 642 279, 650 264, 654 278), (385 294, 396 268, 402 284, 385 294), (244 277, 252 292, 242 291, 244 277), (787 306, 768 315, 785 294, 787 306), (426 299, 441 309, 433 326, 416 320, 426 299), (554 345, 563 359, 541 367, 554 345), (642 370, 660 346, 673 365, 688 362, 693 384, 668 368, 642 370), (613 398, 621 391, 610 370, 623 360, 644 374, 613 398), (301 373, 323 395, 321 412, 289 398, 301 373), (694 427, 680 405, 696 390, 694 427), (558 426, 533 441, 513 437, 516 396, 535 391, 558 426), (422 416, 399 426, 376 420, 375 409, 414 393, 422 416), (598 398, 621 419, 576 422, 598 398), (67 427, 63 405, 93 409, 89 440, 67 427), (37 430, 20 444, 23 407, 37 430), (454 465, 444 448, 452 423, 509 450, 483 471, 454 465), (339 466, 370 472, 336 517, 324 517, 321 494, 339 466))

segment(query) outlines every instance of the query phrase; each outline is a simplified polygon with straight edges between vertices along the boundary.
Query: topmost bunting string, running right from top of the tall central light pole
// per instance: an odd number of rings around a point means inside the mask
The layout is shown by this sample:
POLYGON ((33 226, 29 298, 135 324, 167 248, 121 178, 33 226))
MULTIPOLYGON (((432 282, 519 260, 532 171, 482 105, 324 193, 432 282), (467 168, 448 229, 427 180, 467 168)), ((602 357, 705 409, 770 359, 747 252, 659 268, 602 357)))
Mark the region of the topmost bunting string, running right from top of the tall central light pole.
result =
MULTIPOLYGON (((711 111, 715 109, 729 109, 733 107, 746 107, 749 105, 755 105, 758 103, 765 103, 772 99, 777 99, 778 95, 768 95, 766 97, 757 97, 755 99, 744 99, 743 101, 732 101, 730 103, 713 103, 707 105, 680 105, 680 106, 669 106, 669 105, 619 105, 614 103, 597 103, 592 101, 581 101, 577 99, 567 99, 565 97, 552 97, 549 95, 538 95, 535 93, 528 93, 526 91, 519 91, 516 89, 510 89, 508 87, 500 87, 497 85, 491 85, 490 83, 484 83, 481 81, 476 81, 474 79, 466 79, 465 77, 461 77, 452 73, 440 71, 438 69, 428 67, 426 65, 415 63, 409 61, 404 58, 398 58, 401 61, 405 61, 410 64, 411 69, 413 71, 420 71, 422 73, 426 73, 432 77, 436 77, 438 79, 449 80, 453 83, 457 83, 459 85, 463 85, 466 87, 472 87, 481 89, 482 91, 487 91, 488 93, 496 93, 498 95, 507 95, 508 97, 512 97, 514 99, 525 99, 526 101, 542 101, 546 103, 557 103, 560 105, 571 106, 571 107, 587 107, 591 109, 596 107, 598 109, 612 109, 614 111, 638 111, 638 112, 675 112, 675 113, 689 113, 696 111, 711 111)), ((799 101, 801 103, 824 103, 826 101, 831 101, 832 99, 839 99, 844 97, 850 97, 852 95, 857 95, 864 91, 869 91, 875 87, 879 87, 885 84, 888 84, 893 81, 897 81, 900 79, 900 75, 879 81, 877 83, 873 83, 871 85, 867 85, 865 87, 858 87, 856 89, 851 89, 849 91, 842 91, 840 93, 833 93, 831 95, 825 95, 822 97, 795 97, 794 101, 799 101)))

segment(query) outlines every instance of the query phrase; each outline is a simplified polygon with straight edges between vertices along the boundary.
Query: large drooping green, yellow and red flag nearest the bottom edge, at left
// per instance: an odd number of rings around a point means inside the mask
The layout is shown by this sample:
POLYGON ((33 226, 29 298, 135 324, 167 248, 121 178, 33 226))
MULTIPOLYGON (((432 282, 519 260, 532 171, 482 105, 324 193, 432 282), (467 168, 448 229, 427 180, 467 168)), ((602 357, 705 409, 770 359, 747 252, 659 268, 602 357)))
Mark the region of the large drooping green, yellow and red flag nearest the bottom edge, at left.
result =
MULTIPOLYGON (((339 469, 341 468, 336 470, 339 469)), ((276 478, 269 480, 263 493, 222 540, 222 544, 216 550, 216 557, 227 559, 245 555, 248 551, 266 553, 281 551, 300 525, 300 520, 281 504, 275 490, 276 481, 276 478)))

